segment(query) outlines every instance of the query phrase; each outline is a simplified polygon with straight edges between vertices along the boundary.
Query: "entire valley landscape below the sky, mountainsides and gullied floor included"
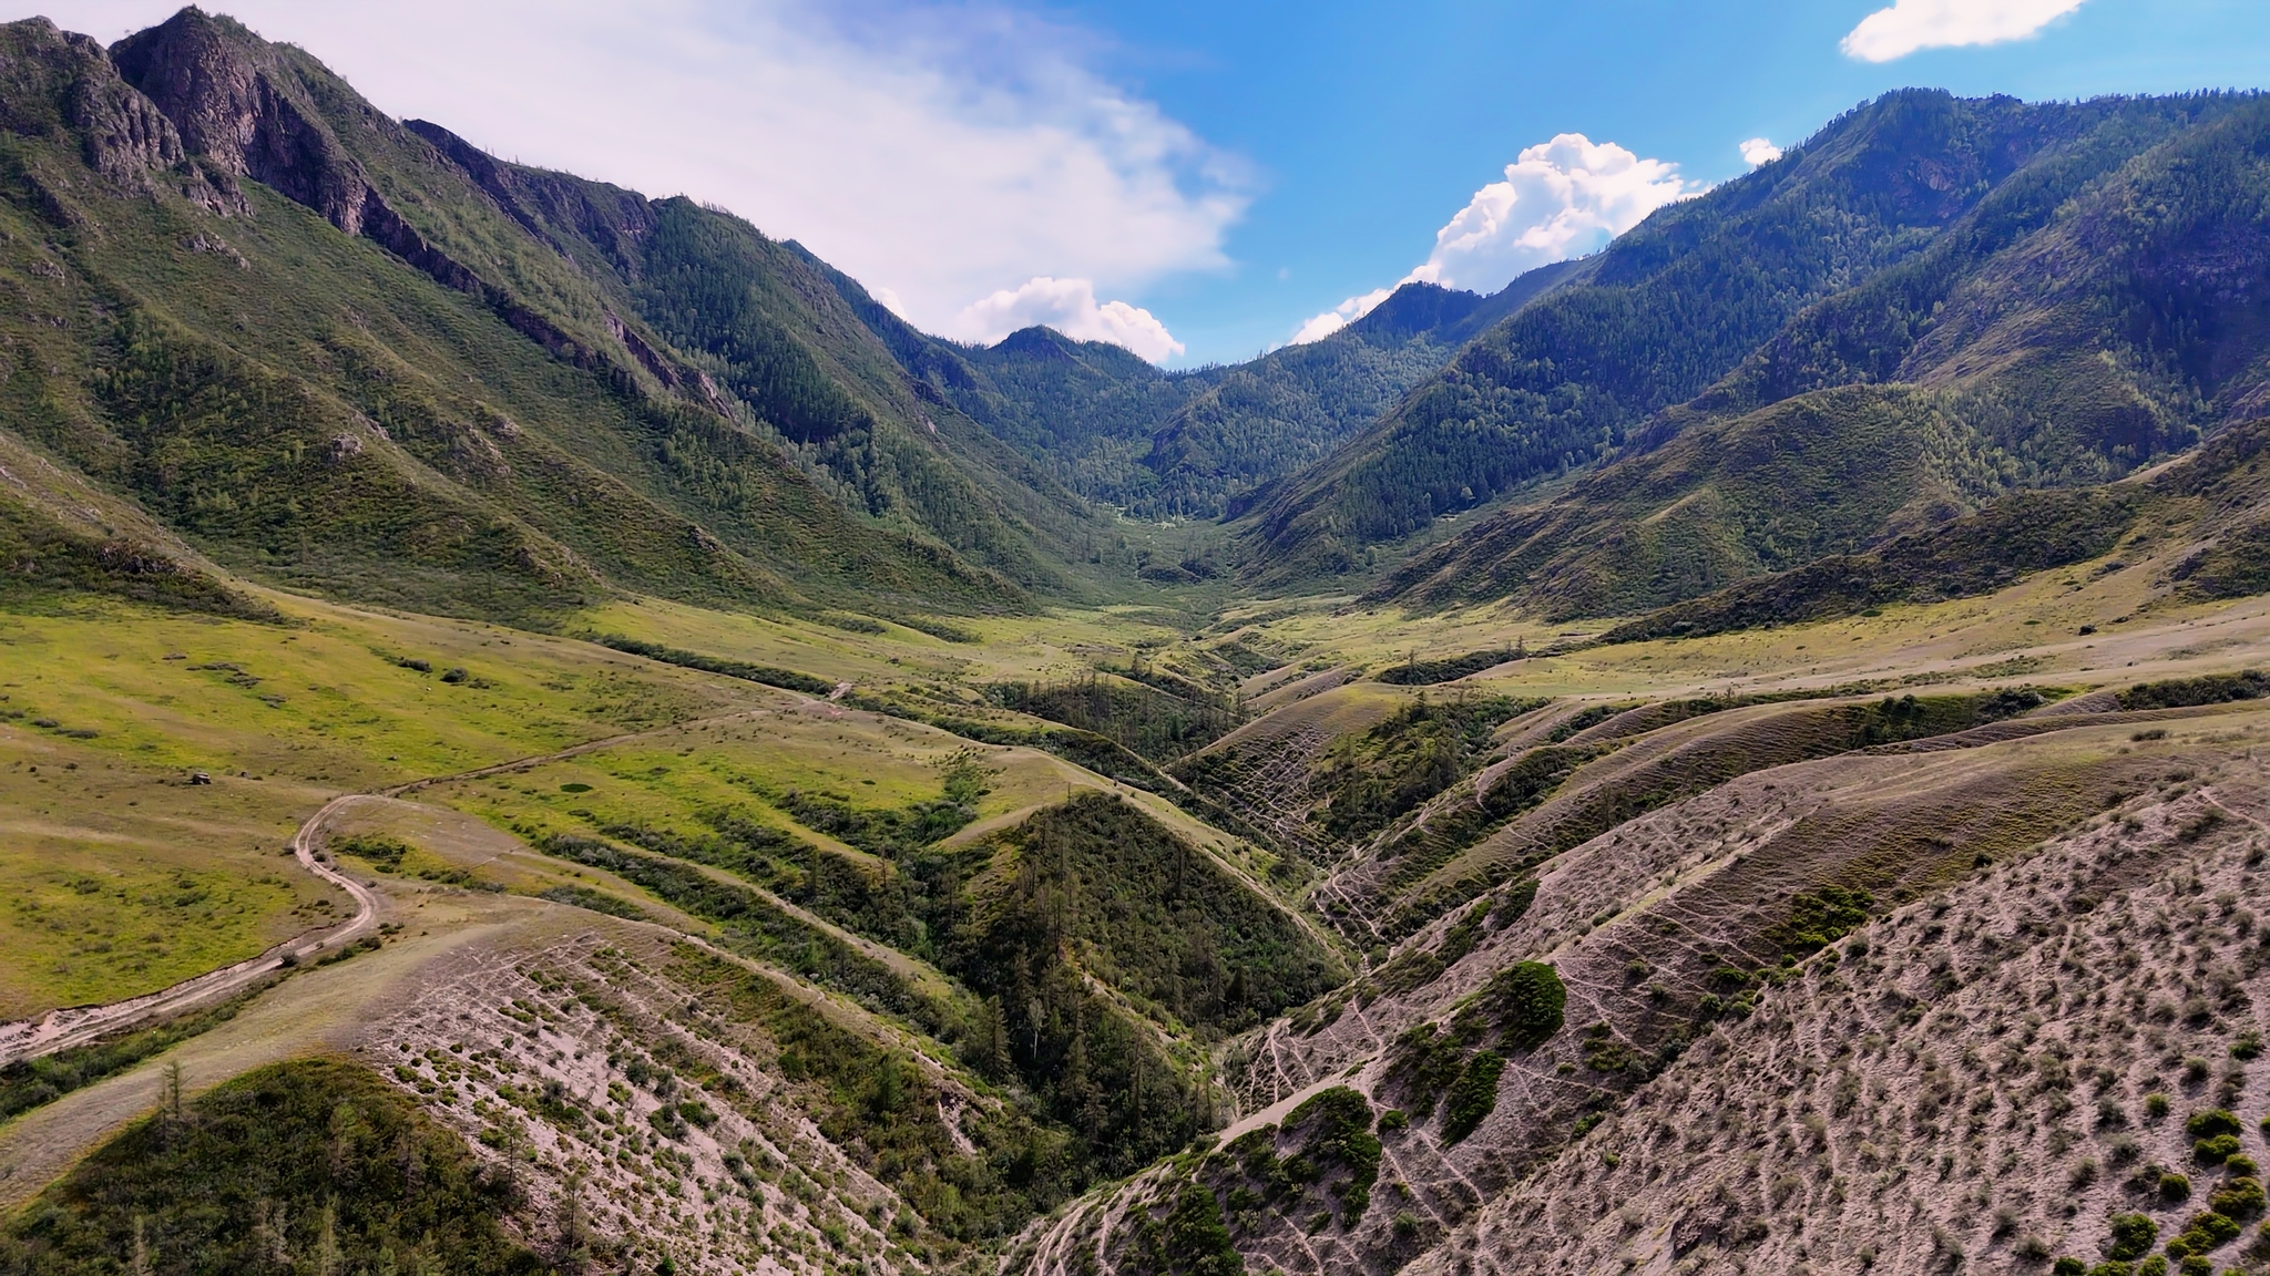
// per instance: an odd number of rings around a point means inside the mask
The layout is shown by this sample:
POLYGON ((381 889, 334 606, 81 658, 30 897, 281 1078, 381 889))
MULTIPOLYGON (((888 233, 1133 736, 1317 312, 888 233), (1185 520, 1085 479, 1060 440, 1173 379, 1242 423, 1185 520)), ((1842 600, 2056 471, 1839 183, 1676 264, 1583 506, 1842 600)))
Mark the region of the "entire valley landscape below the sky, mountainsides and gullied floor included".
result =
POLYGON ((1169 372, 5 25, 0 1271, 2261 1271, 2265 138, 1169 372))

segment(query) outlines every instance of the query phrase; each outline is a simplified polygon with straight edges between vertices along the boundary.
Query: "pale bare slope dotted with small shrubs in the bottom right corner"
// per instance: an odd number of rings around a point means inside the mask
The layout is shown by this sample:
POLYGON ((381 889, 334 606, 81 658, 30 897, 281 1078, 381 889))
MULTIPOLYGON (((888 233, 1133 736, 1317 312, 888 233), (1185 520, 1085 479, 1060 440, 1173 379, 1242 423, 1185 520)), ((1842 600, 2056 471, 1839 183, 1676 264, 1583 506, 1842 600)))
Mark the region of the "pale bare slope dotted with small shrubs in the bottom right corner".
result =
MULTIPOLYGON (((1909 1274, 2095 1265, 2122 1215, 2150 1219, 2145 1251, 2209 1208, 2236 1233, 2243 1172, 2202 1165, 2186 1126, 2265 1103, 2243 1044, 2261 783, 2179 786, 1861 929, 1412 1269, 1909 1274)), ((2206 1246, 2216 1267, 2247 1249, 2206 1246)))

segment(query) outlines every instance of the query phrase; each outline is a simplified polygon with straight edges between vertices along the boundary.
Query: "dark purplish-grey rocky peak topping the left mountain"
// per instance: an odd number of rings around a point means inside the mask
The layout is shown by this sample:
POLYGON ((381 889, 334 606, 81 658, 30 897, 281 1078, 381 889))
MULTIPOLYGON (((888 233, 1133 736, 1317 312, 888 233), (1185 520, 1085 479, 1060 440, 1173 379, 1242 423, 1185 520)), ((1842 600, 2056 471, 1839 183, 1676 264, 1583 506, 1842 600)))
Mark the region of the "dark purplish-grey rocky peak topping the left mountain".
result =
POLYGON ((347 234, 363 232, 370 182, 277 45, 188 7, 118 41, 109 57, 173 120, 191 154, 272 186, 347 234))

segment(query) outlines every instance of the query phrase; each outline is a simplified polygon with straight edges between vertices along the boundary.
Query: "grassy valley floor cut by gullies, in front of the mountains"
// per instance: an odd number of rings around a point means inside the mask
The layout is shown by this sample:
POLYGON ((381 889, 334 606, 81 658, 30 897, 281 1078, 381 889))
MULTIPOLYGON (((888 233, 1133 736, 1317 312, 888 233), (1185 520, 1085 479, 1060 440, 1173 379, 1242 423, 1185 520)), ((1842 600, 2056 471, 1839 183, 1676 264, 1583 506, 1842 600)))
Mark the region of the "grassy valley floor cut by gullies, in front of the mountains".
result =
POLYGON ((561 1269, 2029 1269, 2138 1217, 2245 1265, 2270 602, 2150 572, 1623 645, 18 606, 7 1244, 186 1244, 73 1167, 334 1058, 561 1269))

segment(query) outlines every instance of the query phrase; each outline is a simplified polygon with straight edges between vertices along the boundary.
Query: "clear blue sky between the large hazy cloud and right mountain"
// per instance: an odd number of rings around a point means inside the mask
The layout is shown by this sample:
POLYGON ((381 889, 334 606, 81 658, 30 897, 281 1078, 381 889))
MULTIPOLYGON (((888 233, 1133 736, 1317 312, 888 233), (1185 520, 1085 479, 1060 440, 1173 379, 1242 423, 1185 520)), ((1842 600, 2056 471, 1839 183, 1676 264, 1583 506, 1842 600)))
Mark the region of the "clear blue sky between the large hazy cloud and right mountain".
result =
POLYGON ((1843 36, 1882 7, 1151 0, 1062 14, 1112 32, 1128 82, 1258 168, 1260 195, 1226 236, 1235 266, 1130 297, 1189 359, 1246 356, 1403 277, 1478 186, 1559 132, 1723 182, 1748 170, 1741 141, 1802 141, 1909 84, 2034 100, 2270 86, 2261 0, 2086 0, 2023 41, 1846 57, 1843 36))

